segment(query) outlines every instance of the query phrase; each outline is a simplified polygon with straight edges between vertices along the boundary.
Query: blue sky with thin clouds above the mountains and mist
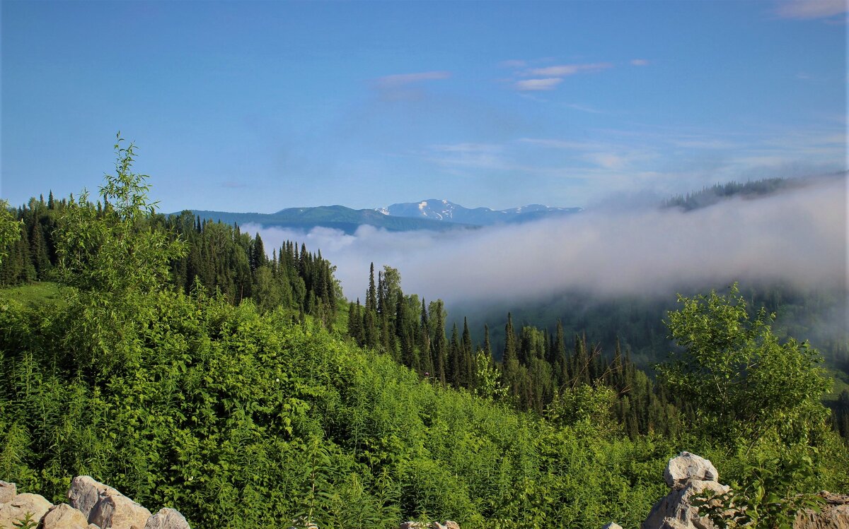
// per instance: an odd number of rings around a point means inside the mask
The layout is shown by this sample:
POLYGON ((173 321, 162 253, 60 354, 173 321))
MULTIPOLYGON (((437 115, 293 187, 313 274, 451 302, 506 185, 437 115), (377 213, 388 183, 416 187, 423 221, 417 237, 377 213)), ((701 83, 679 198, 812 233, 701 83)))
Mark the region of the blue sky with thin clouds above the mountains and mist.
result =
POLYGON ((2 3, 2 188, 587 206, 846 169, 846 4, 2 3))

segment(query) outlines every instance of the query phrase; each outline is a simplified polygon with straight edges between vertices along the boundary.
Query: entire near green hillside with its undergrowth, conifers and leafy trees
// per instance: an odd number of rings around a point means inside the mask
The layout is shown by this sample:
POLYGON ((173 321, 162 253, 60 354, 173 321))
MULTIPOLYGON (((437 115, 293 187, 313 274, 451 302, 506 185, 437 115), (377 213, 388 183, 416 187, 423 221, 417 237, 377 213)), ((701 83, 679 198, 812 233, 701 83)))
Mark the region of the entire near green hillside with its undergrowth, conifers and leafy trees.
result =
POLYGON ((780 498, 849 490, 818 354, 734 288, 678 300, 656 383, 510 317, 499 363, 396 270, 346 305, 320 253, 267 259, 238 228, 155 215, 115 148, 99 208, 0 211, 3 270, 60 285, 0 298, 0 478, 23 490, 87 474, 199 527, 635 527, 682 449, 730 482, 791 468, 780 498))

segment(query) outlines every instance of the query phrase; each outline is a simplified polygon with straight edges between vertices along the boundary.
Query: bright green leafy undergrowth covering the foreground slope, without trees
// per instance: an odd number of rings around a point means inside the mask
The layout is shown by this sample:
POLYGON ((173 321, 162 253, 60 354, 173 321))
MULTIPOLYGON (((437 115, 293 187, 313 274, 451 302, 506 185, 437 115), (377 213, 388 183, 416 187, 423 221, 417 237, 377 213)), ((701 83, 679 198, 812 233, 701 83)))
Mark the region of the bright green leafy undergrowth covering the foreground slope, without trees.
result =
POLYGON ((421 516, 635 526, 678 448, 434 387, 251 303, 137 301, 114 361, 90 354, 107 339, 98 330, 76 331, 104 316, 84 297, 62 309, 3 304, 4 479, 58 500, 72 476, 90 474, 198 526, 300 515, 346 527, 421 516))

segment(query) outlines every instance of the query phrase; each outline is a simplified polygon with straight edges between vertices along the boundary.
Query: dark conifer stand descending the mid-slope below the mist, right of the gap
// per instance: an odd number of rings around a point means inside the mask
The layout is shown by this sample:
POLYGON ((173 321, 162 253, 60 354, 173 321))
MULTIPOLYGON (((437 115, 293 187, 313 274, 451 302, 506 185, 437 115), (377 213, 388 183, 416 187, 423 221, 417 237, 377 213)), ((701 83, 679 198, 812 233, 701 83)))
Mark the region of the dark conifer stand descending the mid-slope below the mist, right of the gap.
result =
POLYGON ((375 282, 372 264, 365 296, 364 307, 358 300, 349 307, 348 335, 361 347, 389 354, 442 386, 499 396, 516 409, 540 416, 548 407, 571 398, 573 393, 586 394, 593 388, 606 387, 614 397, 610 404, 616 421, 632 438, 649 432, 672 436, 681 427, 682 415, 689 413, 686 405, 673 402, 667 387, 652 381, 633 365, 627 354, 621 354, 618 342, 614 354, 605 356, 599 346, 588 344, 586 336, 576 335, 574 346, 567 352, 565 332, 559 322, 552 337, 548 331, 534 326, 521 326, 517 331, 512 315, 508 314, 502 359, 498 361, 492 358, 488 328, 481 348, 473 345, 466 319, 462 339, 455 325, 451 339, 447 340, 444 303, 436 300, 425 306, 415 294, 405 296, 401 275, 390 266, 378 273, 375 282), (388 282, 386 277, 392 278, 392 289, 396 292, 393 311, 380 309, 378 292, 383 292, 382 286, 388 282), (419 340, 413 339, 416 336, 419 340), (488 371, 491 368, 498 370, 497 381, 488 371), (481 370, 487 371, 484 374, 481 370))

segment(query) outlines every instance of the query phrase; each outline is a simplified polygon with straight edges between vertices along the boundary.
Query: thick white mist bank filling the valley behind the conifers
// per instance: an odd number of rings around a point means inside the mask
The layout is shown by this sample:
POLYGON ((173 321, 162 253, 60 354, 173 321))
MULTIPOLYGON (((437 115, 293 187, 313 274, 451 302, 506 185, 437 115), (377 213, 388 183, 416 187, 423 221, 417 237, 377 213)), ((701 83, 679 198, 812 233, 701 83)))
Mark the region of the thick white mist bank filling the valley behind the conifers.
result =
POLYGON ((452 303, 526 303, 581 290, 599 298, 669 297, 682 285, 779 281, 846 292, 846 177, 684 213, 606 205, 521 225, 436 233, 362 226, 353 235, 261 226, 265 248, 306 242, 363 298, 368 265, 401 271, 404 292, 452 303))

